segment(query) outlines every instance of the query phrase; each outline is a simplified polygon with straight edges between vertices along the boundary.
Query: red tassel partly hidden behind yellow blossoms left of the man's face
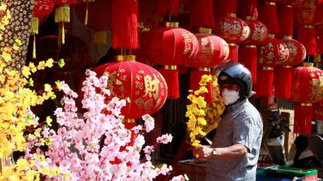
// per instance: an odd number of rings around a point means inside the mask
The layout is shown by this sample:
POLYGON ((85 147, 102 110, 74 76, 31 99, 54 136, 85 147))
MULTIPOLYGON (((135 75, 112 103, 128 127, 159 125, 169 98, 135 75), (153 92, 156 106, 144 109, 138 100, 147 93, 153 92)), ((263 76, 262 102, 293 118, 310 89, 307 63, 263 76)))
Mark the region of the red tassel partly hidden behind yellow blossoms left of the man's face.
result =
MULTIPOLYGON (((193 91, 197 91, 198 89, 200 89, 200 84, 199 82, 201 81, 201 78, 203 75, 210 75, 211 72, 210 71, 205 71, 205 70, 200 70, 198 68, 194 68, 191 70, 191 74, 190 74, 190 89, 193 91)), ((203 95, 205 101, 207 104, 212 104, 213 100, 212 100, 212 83, 209 81, 207 83, 207 91, 208 93, 205 93, 203 95)))

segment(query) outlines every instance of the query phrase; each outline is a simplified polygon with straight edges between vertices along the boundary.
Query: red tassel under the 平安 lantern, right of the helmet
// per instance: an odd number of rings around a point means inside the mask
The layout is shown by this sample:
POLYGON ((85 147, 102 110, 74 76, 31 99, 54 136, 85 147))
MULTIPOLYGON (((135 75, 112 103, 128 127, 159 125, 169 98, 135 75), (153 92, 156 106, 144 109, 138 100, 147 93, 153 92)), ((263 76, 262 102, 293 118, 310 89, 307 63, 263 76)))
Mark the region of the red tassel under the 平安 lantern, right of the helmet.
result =
POLYGON ((253 97, 263 98, 273 96, 274 70, 257 70, 257 83, 253 84, 253 90, 257 94, 253 97))

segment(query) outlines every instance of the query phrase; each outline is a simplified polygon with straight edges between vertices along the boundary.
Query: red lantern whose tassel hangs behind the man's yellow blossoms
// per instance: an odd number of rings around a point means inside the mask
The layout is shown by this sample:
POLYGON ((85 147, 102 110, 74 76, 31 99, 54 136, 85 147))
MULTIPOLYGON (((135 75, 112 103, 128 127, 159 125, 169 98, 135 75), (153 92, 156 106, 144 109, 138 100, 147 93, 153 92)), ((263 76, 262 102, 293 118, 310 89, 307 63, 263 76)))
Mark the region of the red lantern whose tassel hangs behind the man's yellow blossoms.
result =
MULTIPOLYGON (((224 39, 210 34, 211 29, 200 28, 199 30, 201 33, 194 34, 198 41, 198 53, 187 61, 189 67, 195 67, 191 70, 190 76, 190 89, 193 91, 200 88, 201 77, 204 74, 210 74, 210 68, 225 62, 229 56, 229 46, 224 39)), ((209 90, 212 90, 211 83, 208 86, 209 90)), ((205 100, 211 104, 212 95, 207 94, 205 100)))

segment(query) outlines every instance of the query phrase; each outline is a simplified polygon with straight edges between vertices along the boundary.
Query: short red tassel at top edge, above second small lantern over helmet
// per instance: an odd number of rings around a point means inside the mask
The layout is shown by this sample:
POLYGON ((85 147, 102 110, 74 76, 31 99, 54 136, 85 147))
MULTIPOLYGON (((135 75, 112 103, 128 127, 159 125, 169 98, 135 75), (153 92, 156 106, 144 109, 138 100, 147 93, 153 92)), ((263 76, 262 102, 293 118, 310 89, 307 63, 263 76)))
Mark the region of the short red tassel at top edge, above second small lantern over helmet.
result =
POLYGON ((241 0, 238 5, 238 17, 245 20, 246 17, 258 17, 258 2, 257 0, 241 0))

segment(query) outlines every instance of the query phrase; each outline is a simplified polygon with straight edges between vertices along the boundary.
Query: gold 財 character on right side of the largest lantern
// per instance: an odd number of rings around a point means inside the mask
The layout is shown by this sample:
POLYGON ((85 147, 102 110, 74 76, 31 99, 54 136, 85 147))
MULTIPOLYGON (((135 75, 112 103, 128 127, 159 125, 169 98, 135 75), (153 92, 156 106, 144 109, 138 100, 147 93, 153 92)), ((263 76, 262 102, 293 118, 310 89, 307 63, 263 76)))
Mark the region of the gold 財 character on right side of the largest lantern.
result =
POLYGON ((146 97, 148 95, 149 98, 151 98, 153 96, 153 99, 157 100, 158 96, 159 96, 159 87, 158 87, 159 80, 157 79, 155 74, 153 74, 153 76, 154 76, 153 80, 150 75, 146 75, 144 77, 145 87, 146 87, 145 93, 146 94, 143 97, 146 97))

